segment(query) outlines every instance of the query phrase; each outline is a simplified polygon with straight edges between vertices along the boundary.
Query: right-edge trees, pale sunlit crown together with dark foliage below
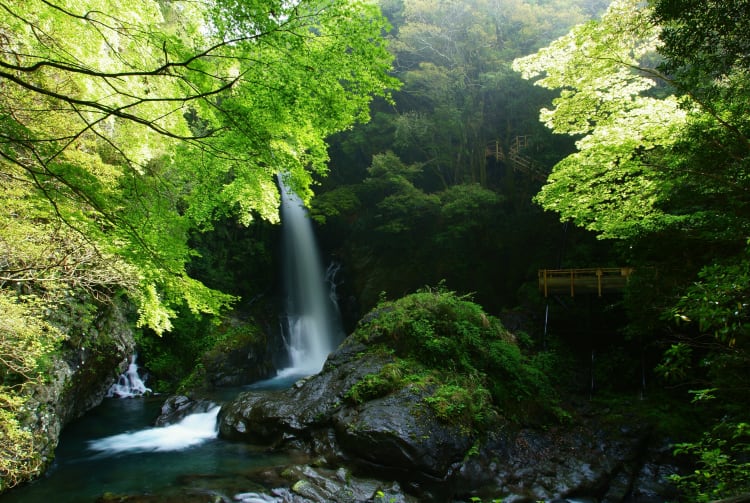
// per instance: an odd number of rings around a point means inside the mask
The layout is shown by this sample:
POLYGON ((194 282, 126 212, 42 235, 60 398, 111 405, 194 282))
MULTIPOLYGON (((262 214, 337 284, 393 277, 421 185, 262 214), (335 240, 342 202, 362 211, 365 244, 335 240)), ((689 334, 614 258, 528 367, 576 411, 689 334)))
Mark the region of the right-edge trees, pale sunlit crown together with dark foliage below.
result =
POLYGON ((560 90, 541 118, 579 138, 536 200, 636 253, 648 243, 664 255, 669 243, 673 258, 662 260, 679 270, 660 275, 678 279, 661 314, 677 340, 657 371, 694 386, 696 402, 713 404, 703 409, 713 413, 703 438, 678 449, 698 464, 676 477, 692 501, 750 487, 748 39, 732 24, 747 9, 746 2, 659 0, 652 9, 618 0, 600 22, 514 63, 526 78, 560 90))

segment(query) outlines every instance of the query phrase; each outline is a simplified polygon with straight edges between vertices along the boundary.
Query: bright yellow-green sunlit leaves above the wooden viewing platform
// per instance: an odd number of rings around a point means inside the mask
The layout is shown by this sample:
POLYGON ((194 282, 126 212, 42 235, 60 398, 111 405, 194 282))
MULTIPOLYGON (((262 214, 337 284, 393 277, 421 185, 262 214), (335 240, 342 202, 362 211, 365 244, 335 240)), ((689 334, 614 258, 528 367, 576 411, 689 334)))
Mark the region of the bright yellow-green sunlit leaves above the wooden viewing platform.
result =
POLYGON ((602 237, 675 221, 662 204, 674 174, 653 154, 671 148, 689 114, 684 101, 653 95, 656 72, 641 65, 657 48, 658 27, 637 4, 614 2, 601 21, 514 62, 537 85, 561 89, 542 121, 556 133, 583 135, 536 200, 602 237))

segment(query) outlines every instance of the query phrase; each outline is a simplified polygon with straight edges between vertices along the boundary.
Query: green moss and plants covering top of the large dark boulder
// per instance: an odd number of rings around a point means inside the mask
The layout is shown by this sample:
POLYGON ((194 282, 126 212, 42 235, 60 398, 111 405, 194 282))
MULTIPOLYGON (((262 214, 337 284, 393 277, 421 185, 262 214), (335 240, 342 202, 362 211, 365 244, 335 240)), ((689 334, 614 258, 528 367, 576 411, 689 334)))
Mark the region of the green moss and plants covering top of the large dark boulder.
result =
POLYGON ((406 385, 431 389, 424 402, 441 420, 481 429, 498 415, 556 420, 564 416, 542 371, 500 321, 465 296, 425 289, 381 300, 354 332, 355 341, 390 350, 395 362, 349 391, 361 403, 406 385))

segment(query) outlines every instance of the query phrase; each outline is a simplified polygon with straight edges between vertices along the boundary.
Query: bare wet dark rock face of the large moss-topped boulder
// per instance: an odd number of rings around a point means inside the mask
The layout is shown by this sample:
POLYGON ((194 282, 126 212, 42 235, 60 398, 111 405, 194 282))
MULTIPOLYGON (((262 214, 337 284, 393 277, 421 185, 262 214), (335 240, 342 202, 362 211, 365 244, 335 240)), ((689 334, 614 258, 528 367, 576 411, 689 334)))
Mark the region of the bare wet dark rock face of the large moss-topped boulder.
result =
POLYGON ((222 408, 220 434, 304 448, 334 462, 353 459, 368 469, 418 481, 444 480, 473 439, 437 420, 422 401, 426 391, 416 387, 361 405, 348 402, 346 393, 356 382, 392 361, 388 355, 348 361, 343 356, 356 356, 360 349, 342 350, 324 372, 288 390, 240 395, 222 408))

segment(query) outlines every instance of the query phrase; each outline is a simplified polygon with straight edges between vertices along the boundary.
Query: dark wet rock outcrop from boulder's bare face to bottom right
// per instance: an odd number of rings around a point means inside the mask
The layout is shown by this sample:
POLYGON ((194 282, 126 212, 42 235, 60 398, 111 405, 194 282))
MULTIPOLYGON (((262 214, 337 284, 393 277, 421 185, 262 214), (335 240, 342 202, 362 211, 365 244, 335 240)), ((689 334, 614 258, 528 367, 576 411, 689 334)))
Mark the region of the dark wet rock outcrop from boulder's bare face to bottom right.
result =
MULTIPOLYGON (((476 495, 614 503, 637 495, 645 503, 669 495, 666 477, 675 468, 650 452, 651 430, 609 424, 596 411, 575 413, 570 423, 546 429, 499 422, 479 435, 436 418, 417 387, 361 404, 347 400, 356 382, 391 361, 345 343, 320 374, 283 391, 246 392, 226 404, 220 434, 302 450, 333 470, 347 466, 354 475, 397 481, 420 501, 476 495)), ((300 487, 311 483, 300 480, 300 487)), ((293 493, 294 487, 290 483, 293 493)), ((313 489, 296 492, 302 499, 295 501, 327 501, 313 489)))

